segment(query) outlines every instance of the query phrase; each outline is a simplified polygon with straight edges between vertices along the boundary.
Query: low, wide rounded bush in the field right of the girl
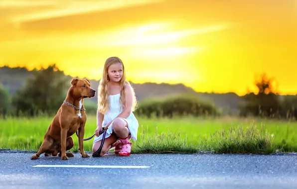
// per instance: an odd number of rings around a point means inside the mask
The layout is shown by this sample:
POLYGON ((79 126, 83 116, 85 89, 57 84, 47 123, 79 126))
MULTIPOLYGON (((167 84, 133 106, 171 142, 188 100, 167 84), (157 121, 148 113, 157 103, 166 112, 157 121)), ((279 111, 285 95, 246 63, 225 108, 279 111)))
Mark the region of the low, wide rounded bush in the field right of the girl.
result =
POLYGON ((153 114, 156 117, 173 116, 207 116, 219 115, 215 105, 210 101, 200 100, 195 95, 171 95, 164 98, 148 99, 139 104, 136 110, 138 115, 151 117, 153 114))

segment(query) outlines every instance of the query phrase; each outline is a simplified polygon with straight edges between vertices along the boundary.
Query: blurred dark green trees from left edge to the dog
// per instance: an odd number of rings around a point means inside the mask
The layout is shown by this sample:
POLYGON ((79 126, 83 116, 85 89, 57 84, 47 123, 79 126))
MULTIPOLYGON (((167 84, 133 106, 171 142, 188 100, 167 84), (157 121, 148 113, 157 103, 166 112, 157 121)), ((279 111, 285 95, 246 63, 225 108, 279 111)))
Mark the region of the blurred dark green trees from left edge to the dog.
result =
POLYGON ((0 86, 0 111, 5 118, 12 116, 38 116, 56 113, 65 99, 69 88, 69 79, 56 65, 50 65, 40 71, 33 70, 33 78, 27 79, 24 86, 15 95, 10 96, 8 89, 0 86))

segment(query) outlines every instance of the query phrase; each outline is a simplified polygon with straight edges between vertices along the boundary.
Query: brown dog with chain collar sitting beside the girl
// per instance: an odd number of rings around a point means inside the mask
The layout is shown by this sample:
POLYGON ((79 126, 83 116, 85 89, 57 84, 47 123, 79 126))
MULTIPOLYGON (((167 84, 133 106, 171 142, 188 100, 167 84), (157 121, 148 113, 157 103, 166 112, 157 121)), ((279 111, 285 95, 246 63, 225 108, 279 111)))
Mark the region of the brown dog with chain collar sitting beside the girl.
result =
POLYGON ((38 159, 40 154, 44 156, 56 156, 59 153, 61 160, 73 157, 72 153, 66 153, 73 147, 72 135, 78 130, 79 151, 83 158, 90 157, 85 154, 83 138, 87 115, 85 113, 83 100, 95 96, 96 91, 91 88, 87 79, 73 79, 64 103, 49 125, 39 151, 31 156, 32 160, 38 159))

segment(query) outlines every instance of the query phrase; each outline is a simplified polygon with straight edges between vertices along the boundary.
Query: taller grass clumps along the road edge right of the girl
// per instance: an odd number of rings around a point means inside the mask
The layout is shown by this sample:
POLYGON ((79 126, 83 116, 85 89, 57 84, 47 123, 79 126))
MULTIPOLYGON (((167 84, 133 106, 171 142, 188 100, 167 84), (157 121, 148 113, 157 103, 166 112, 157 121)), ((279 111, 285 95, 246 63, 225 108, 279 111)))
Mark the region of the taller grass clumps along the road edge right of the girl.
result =
MULTIPOLYGON (((147 129, 148 133, 148 129, 147 129)), ((204 139, 199 136, 196 143, 189 142, 187 134, 182 137, 181 131, 172 133, 147 134, 142 129, 141 138, 134 146, 134 153, 197 153, 212 151, 215 153, 236 154, 270 154, 275 151, 284 151, 280 146, 273 144, 272 136, 265 126, 251 123, 244 127, 238 125, 229 127, 227 130, 220 128, 210 133, 210 138, 204 139)))

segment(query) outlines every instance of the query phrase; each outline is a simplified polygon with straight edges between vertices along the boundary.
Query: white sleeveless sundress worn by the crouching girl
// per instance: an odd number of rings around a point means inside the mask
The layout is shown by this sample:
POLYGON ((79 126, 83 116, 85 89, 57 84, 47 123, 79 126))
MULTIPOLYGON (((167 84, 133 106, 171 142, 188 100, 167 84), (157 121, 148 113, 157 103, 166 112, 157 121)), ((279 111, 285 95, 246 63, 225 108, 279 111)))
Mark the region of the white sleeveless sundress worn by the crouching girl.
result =
MULTIPOLYGON (((115 119, 122 112, 121 104, 120 104, 120 95, 121 94, 109 95, 110 110, 108 110, 104 114, 102 127, 105 127, 109 122, 111 122, 113 119, 115 119)), ((127 117, 127 119, 125 119, 125 118, 122 118, 122 119, 124 119, 128 123, 128 129, 129 129, 129 132, 131 133, 131 139, 136 141, 139 123, 138 123, 138 120, 136 119, 134 113, 131 112, 129 117, 127 117)), ((109 127, 107 128, 105 138, 108 138, 113 133, 113 131, 114 131, 113 123, 111 123, 109 125, 109 127)), ((103 134, 99 135, 99 137, 95 135, 93 143, 102 140, 102 136, 103 136, 103 134)))

